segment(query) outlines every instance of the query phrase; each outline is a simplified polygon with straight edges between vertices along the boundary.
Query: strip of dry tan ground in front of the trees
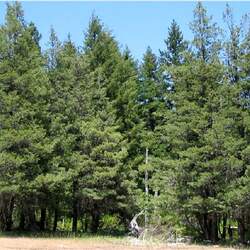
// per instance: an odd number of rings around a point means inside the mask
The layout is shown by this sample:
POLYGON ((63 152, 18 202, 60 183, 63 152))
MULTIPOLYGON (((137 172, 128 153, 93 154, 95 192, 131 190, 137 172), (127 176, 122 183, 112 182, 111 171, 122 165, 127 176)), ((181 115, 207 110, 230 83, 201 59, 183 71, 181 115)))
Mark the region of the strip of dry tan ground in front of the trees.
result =
MULTIPOLYGON (((229 250, 218 245, 149 243, 132 238, 30 238, 0 237, 0 250, 229 250)), ((243 248, 241 248, 243 249, 243 248)))

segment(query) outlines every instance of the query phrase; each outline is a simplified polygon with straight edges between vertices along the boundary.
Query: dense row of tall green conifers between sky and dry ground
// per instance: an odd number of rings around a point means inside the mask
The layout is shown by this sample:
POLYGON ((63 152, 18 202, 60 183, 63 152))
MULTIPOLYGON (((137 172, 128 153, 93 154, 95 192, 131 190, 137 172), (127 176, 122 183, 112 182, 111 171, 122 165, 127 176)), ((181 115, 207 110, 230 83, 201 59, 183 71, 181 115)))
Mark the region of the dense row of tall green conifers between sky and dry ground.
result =
POLYGON ((150 225, 250 239, 250 26, 198 2, 186 41, 142 62, 92 15, 82 46, 48 48, 20 3, 0 26, 0 230, 150 225), (145 162, 145 153, 147 161, 145 162), (146 192, 145 192, 146 188, 146 192))

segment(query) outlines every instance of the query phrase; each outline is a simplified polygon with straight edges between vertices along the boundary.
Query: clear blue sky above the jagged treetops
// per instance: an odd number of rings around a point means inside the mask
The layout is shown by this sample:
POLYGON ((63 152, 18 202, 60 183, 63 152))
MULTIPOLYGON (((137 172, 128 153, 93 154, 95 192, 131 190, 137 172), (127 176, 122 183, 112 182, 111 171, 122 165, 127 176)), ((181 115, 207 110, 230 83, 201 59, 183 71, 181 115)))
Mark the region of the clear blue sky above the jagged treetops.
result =
MULTIPOLYGON (((46 48, 51 25, 60 40, 70 33, 76 45, 83 43, 84 31, 94 11, 108 27, 121 48, 129 47, 133 56, 140 59, 147 46, 155 53, 164 48, 168 26, 175 19, 184 37, 192 39, 189 23, 196 2, 22 2, 25 19, 33 21, 42 34, 41 45, 46 48)), ((204 2, 208 13, 222 24, 226 2, 204 2)), ((250 12, 250 2, 230 2, 235 20, 250 12)), ((0 23, 4 22, 5 2, 0 2, 0 23)))

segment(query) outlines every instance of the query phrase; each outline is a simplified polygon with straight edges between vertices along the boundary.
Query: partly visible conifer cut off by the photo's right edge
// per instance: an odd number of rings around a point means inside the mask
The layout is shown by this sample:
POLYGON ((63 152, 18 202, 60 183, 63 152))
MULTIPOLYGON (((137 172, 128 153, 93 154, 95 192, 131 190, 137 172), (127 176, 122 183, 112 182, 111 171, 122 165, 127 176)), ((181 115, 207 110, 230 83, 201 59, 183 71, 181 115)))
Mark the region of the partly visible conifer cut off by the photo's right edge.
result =
MULTIPOLYGON (((240 55, 237 57, 238 81, 232 84, 232 79, 229 79, 232 93, 234 93, 231 99, 237 101, 234 101, 230 110, 227 112, 225 110, 225 113, 227 117, 233 119, 231 127, 234 128, 234 135, 240 146, 237 152, 238 158, 241 160, 241 168, 228 185, 225 200, 228 204, 231 220, 237 221, 239 241, 245 243, 250 231, 250 207, 246 200, 249 188, 249 26, 239 48, 240 55), (235 119, 236 117, 237 119, 235 119)), ((236 151, 235 148, 234 151, 236 151)))

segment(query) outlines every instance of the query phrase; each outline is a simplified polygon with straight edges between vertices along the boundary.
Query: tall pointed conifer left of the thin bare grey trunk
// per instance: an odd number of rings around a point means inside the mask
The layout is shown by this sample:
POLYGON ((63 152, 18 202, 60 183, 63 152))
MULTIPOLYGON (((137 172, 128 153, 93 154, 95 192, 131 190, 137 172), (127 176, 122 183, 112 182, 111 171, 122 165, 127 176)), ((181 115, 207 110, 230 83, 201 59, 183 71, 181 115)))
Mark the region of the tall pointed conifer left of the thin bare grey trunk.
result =
POLYGON ((82 94, 87 111, 85 119, 79 120, 81 137, 76 154, 82 166, 78 172, 78 187, 82 199, 89 203, 91 230, 96 232, 103 212, 121 210, 129 191, 129 169, 122 164, 127 149, 119 132, 115 108, 119 91, 129 79, 131 69, 98 17, 92 17, 84 45, 81 61, 86 72, 83 81, 87 93, 82 89, 82 94), (91 179, 83 176, 84 169, 92 173, 91 179))

